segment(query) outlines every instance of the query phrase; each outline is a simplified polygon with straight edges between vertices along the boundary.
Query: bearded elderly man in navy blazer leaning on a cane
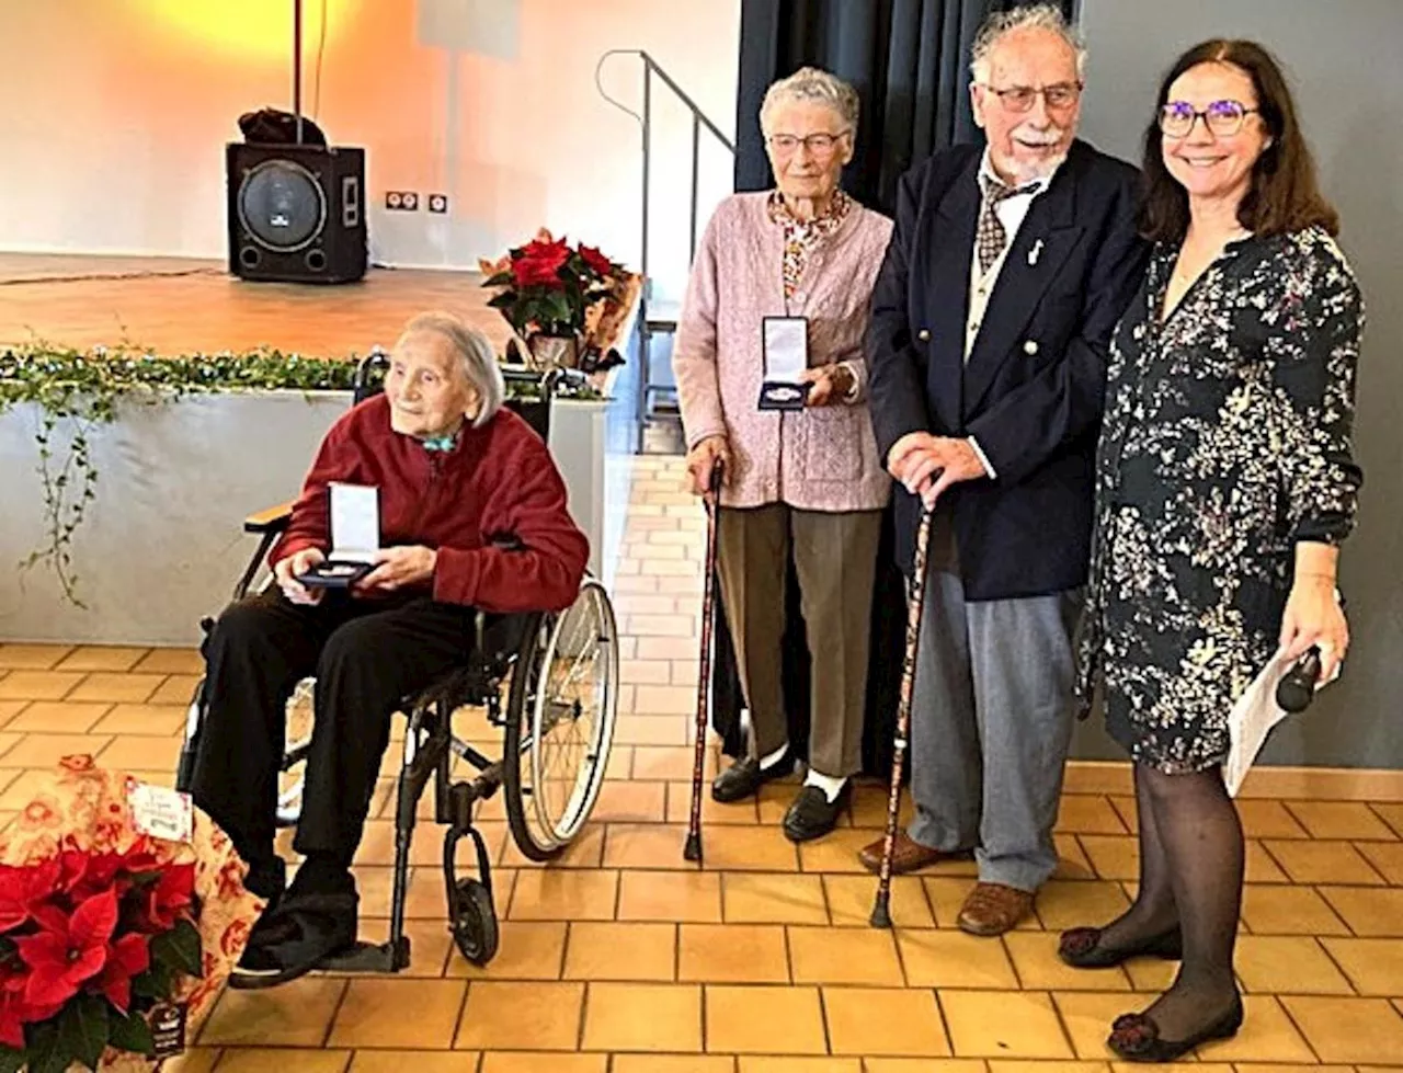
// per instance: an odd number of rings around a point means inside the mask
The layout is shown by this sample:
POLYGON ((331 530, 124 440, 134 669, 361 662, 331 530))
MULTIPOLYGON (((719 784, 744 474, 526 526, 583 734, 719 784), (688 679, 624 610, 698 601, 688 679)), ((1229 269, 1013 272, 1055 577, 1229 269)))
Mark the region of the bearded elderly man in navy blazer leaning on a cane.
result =
POLYGON ((971 98, 988 147, 902 178, 873 296, 873 426, 905 490, 908 575, 922 506, 930 532, 915 818, 860 857, 906 872, 972 850, 958 924, 976 936, 1014 927, 1056 867, 1107 345, 1145 262, 1135 170, 1076 140, 1083 59, 1049 4, 985 24, 971 98))

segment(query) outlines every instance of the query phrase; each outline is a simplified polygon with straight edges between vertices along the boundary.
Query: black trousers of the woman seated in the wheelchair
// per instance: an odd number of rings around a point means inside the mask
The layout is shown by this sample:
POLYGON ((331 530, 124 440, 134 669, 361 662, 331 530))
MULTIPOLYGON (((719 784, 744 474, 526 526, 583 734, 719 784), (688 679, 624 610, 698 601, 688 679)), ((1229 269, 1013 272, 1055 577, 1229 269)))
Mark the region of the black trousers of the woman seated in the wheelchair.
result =
POLYGON ((427 598, 318 605, 268 592, 231 605, 205 640, 205 722, 195 804, 246 860, 272 854, 286 703, 316 675, 297 853, 355 854, 375 792, 390 720, 408 694, 462 666, 471 607, 427 598))

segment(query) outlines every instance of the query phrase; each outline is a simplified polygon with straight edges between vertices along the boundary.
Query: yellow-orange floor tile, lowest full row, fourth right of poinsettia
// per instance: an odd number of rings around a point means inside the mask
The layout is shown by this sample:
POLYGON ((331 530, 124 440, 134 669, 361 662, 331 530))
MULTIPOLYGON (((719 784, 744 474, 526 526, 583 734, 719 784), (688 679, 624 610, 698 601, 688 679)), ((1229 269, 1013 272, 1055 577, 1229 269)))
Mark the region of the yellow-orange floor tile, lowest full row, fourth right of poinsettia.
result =
POLYGON ((692 985, 591 983, 585 1051, 702 1051, 702 989, 692 985))

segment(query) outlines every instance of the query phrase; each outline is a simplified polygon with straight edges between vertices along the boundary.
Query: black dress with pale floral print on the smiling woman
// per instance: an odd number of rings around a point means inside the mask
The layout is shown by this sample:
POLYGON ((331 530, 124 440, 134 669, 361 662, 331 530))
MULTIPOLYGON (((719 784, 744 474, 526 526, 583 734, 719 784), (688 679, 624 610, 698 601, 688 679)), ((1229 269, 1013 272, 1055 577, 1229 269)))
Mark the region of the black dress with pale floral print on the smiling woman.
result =
POLYGON ((1111 342, 1079 699, 1162 771, 1228 756, 1228 714, 1271 659, 1299 540, 1338 543, 1362 302, 1324 230, 1233 243, 1163 321, 1156 247, 1111 342))

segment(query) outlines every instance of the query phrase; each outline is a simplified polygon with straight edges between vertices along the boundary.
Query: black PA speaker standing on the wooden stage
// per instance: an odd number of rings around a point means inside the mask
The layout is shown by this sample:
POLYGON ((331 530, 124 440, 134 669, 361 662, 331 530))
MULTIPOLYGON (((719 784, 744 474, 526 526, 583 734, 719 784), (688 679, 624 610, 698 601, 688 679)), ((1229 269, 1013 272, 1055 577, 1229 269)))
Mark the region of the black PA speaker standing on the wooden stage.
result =
POLYGON ((226 151, 229 271, 349 283, 365 275, 365 150, 246 144, 226 151))

